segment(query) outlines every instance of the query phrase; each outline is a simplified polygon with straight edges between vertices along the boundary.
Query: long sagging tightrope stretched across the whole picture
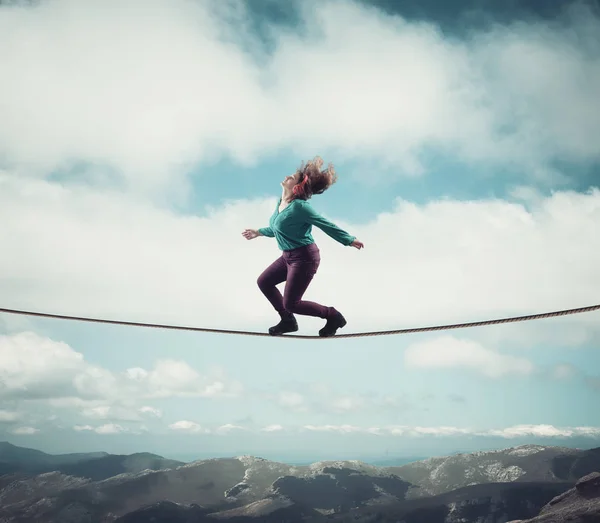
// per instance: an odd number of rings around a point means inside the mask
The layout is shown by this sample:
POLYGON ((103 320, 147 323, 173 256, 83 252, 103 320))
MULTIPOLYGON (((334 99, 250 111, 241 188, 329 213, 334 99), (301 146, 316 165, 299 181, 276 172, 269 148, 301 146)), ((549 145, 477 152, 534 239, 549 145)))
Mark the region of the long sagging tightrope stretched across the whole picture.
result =
MULTIPOLYGON (((483 325, 497 325, 501 323, 514 323, 518 321, 529 321, 529 320, 539 320, 542 318, 550 318, 554 316, 566 316, 568 314, 578 314, 582 312, 590 312, 593 310, 600 309, 600 305, 591 305, 589 307, 580 307, 578 309, 567 309, 556 312, 545 312, 542 314, 531 314, 528 316, 515 316, 512 318, 502 318, 496 320, 485 320, 485 321, 476 321, 471 323, 455 323, 453 325, 437 325, 433 327, 417 327, 411 329, 396 329, 390 331, 372 331, 372 332, 355 332, 352 334, 336 334, 335 338, 361 338, 365 336, 389 336, 392 334, 410 334, 415 332, 428 332, 428 331, 440 331, 440 330, 450 330, 450 329, 463 329, 466 327, 481 327, 483 325)), ((253 332, 253 331, 241 331, 241 330, 227 330, 227 329, 208 329, 204 327, 185 327, 179 325, 160 325, 156 323, 138 323, 133 321, 119 321, 119 320, 106 320, 106 319, 98 319, 98 318, 83 318, 78 316, 64 316, 61 314, 49 314, 44 312, 30 312, 30 311, 20 311, 15 309, 3 309, 0 308, 0 312, 6 312, 8 314, 22 314, 25 316, 36 316, 40 318, 54 318, 61 320, 73 320, 73 321, 85 321, 85 322, 93 322, 93 323, 110 323, 113 325, 126 325, 128 327, 151 327, 155 329, 171 329, 171 330, 183 330, 183 331, 195 331, 195 332, 212 332, 217 334, 238 334, 242 336, 269 336, 271 335, 267 332, 253 332)), ((300 339, 327 339, 321 338, 320 336, 302 336, 299 334, 285 334, 283 336, 278 336, 280 338, 300 338, 300 339)))

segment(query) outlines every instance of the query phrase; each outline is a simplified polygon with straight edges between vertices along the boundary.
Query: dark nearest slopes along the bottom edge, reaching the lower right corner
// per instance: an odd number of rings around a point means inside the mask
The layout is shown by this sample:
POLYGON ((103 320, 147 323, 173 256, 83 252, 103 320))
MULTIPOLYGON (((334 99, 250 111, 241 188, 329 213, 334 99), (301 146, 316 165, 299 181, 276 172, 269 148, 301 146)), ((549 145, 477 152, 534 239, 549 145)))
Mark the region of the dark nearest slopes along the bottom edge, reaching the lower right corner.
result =
POLYGON ((269 496, 230 510, 158 503, 131 512, 117 523, 597 523, 600 521, 600 474, 571 489, 571 483, 488 483, 439 496, 368 505, 323 515, 287 496, 269 496), (591 483, 596 481, 596 485, 591 483), (587 486, 584 486, 587 485, 587 486), (587 488, 587 498, 584 492, 587 488), (590 492, 596 489, 592 499, 590 492), (540 513, 541 516, 538 516, 540 513), (587 512, 586 512, 587 511, 587 512), (585 514, 589 519, 585 519, 585 514), (532 517, 533 519, 513 519, 532 517), (569 519, 569 518, 581 519, 569 519), (546 518, 546 519, 541 519, 546 518), (550 519, 548 519, 550 518, 550 519))

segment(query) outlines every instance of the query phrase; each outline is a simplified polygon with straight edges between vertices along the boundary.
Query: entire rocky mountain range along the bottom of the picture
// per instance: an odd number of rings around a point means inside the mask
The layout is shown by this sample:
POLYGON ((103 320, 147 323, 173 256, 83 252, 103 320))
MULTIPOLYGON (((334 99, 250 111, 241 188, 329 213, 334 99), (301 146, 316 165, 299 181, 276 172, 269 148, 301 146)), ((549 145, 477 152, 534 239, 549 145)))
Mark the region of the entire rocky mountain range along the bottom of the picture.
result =
POLYGON ((568 520, 588 523, 600 521, 599 471, 600 448, 542 445, 385 467, 50 455, 0 443, 0 522, 554 523, 596 507, 596 520, 568 520))

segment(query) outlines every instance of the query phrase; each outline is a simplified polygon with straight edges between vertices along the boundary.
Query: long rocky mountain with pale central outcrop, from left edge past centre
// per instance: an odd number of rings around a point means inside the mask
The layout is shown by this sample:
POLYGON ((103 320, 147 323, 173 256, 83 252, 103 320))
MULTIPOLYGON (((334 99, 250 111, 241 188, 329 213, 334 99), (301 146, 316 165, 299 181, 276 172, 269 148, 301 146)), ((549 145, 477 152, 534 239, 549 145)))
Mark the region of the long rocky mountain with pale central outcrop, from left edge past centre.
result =
MULTIPOLYGON (((409 487, 401 478, 359 462, 294 467, 241 456, 120 474, 102 481, 58 472, 19 479, 0 491, 0 520, 49 523, 65 521, 76 513, 99 521, 95 518, 116 518, 163 501, 195 504, 212 512, 246 507, 241 509, 245 513, 256 510, 252 503, 272 506, 284 498, 333 512, 373 501, 398 501, 409 487)), ((231 512, 228 517, 234 515, 231 512)))

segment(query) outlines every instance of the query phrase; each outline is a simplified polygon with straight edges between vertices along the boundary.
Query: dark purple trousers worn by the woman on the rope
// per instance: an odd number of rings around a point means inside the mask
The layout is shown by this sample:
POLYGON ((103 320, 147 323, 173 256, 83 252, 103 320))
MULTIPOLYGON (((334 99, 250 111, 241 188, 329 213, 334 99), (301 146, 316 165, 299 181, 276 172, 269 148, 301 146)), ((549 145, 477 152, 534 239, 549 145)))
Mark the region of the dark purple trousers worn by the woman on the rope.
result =
POLYGON ((330 313, 330 307, 302 300, 320 263, 319 248, 314 243, 283 251, 281 257, 263 271, 256 283, 280 315, 288 312, 325 319, 330 313), (286 284, 282 296, 276 285, 284 281, 286 284))

